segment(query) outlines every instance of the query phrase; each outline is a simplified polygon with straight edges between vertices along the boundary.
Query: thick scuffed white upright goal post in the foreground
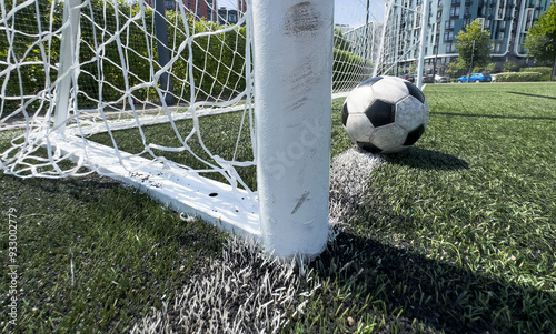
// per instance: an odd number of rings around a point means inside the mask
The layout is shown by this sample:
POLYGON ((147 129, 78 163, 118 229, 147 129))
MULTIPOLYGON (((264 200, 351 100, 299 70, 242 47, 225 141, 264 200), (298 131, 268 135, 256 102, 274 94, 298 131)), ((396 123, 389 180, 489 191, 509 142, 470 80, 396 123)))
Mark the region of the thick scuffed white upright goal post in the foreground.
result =
POLYGON ((316 255, 328 237, 334 0, 252 2, 262 242, 316 255))

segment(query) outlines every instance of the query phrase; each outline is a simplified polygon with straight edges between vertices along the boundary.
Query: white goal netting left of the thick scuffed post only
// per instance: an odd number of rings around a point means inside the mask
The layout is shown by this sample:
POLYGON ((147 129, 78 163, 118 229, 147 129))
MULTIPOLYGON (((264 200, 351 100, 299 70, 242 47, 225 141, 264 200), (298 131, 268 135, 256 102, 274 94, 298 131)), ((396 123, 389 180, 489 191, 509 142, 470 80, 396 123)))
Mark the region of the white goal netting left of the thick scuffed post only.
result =
MULTIPOLYGON (((95 165, 86 159, 64 164, 68 154, 50 148, 53 135, 86 138, 107 132, 106 143, 125 160, 113 132, 136 128, 135 156, 241 182, 235 168, 254 164, 252 153, 242 161, 236 159, 237 139, 252 138, 248 16, 239 16, 236 24, 218 24, 200 17, 202 9, 216 10, 210 6, 203 8, 197 1, 193 11, 178 1, 176 10, 160 17, 166 42, 156 31, 157 14, 147 1, 66 2, 73 6, 71 11, 66 6, 66 16, 63 2, 0 2, 1 125, 26 128, 1 155, 4 171, 46 178, 87 173, 80 168, 95 170, 95 165), (77 43, 62 45, 71 37, 77 43), (169 53, 165 63, 159 61, 161 51, 169 53), (199 121, 200 114, 225 109, 244 111, 239 122, 229 124, 238 126, 239 134, 228 156, 211 152, 199 121), (192 121, 177 125, 177 120, 187 118, 192 121), (160 122, 169 122, 167 135, 151 140, 145 128, 160 122), (172 152, 183 152, 199 163, 191 168, 189 162, 163 158, 172 152)), ((83 156, 88 145, 82 140, 83 156)))

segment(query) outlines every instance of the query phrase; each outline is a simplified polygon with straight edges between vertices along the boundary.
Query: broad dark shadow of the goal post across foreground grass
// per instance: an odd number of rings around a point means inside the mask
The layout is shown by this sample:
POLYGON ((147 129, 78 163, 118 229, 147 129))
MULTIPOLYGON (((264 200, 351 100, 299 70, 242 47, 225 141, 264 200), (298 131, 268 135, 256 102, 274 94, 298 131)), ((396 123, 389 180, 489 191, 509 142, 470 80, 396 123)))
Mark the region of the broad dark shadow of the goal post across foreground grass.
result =
MULTIPOLYGON (((556 331, 553 293, 464 266, 348 232, 341 232, 311 264, 324 281, 330 279, 341 287, 347 295, 341 303, 359 304, 355 310, 365 306, 367 313, 384 316, 386 323, 395 323, 404 333, 419 332, 414 320, 428 327, 425 332, 433 333, 556 331)), ((327 305, 337 298, 334 293, 322 297, 327 305)), ((331 314, 329 321, 337 321, 331 314)))

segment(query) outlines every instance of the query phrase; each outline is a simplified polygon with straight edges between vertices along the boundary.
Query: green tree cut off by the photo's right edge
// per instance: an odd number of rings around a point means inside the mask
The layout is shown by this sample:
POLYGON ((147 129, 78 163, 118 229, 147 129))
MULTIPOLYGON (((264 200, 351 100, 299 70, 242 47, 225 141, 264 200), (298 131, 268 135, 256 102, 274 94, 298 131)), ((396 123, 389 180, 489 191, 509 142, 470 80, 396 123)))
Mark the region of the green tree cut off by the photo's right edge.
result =
POLYGON ((556 73, 556 1, 553 1, 548 10, 533 24, 525 40, 525 49, 535 58, 535 61, 553 62, 550 81, 556 73))

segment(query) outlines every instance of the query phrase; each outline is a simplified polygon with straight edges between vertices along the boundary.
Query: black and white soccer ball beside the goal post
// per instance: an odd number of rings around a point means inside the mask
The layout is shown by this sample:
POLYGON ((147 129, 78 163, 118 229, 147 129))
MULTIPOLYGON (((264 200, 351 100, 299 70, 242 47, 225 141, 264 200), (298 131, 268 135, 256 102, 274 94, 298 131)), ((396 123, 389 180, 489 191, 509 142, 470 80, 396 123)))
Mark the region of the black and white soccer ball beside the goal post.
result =
POLYGON ((376 77, 349 93, 341 122, 359 148, 371 153, 399 152, 425 133, 428 104, 421 91, 409 81, 376 77))

